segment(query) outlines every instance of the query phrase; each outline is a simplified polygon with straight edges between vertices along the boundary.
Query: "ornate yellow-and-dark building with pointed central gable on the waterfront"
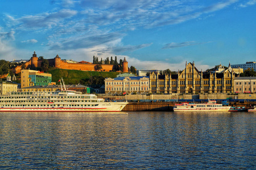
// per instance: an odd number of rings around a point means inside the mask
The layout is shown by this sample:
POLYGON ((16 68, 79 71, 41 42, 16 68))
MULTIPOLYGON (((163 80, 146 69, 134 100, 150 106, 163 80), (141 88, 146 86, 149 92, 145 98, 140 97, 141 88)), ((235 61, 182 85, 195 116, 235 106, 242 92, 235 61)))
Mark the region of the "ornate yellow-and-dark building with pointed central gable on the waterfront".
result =
POLYGON ((183 71, 176 75, 160 75, 150 73, 150 90, 152 94, 212 94, 233 92, 234 71, 224 70, 222 73, 203 73, 195 67, 195 63, 186 63, 183 71))

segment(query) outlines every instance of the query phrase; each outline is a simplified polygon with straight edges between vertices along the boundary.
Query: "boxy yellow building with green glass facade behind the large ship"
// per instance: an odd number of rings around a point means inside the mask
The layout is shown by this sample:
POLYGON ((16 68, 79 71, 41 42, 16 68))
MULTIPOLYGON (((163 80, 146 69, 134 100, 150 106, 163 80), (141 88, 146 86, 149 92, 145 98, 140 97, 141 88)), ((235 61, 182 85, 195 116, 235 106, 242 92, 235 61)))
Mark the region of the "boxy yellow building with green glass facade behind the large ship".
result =
POLYGON ((52 83, 52 75, 35 70, 21 70, 21 88, 47 86, 52 83))

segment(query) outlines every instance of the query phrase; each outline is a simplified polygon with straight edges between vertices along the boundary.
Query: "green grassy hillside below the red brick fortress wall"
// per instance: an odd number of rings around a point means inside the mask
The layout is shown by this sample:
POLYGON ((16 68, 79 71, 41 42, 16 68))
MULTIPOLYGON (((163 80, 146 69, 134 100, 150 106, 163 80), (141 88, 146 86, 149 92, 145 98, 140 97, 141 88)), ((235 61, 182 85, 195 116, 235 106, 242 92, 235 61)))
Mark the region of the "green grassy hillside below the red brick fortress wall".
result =
MULTIPOLYGON (((58 82, 63 78, 65 84, 104 84, 105 78, 115 78, 118 72, 103 72, 103 71, 80 71, 80 70, 49 70, 52 74, 52 82, 58 82)), ((59 83, 57 83, 59 84, 59 83)))

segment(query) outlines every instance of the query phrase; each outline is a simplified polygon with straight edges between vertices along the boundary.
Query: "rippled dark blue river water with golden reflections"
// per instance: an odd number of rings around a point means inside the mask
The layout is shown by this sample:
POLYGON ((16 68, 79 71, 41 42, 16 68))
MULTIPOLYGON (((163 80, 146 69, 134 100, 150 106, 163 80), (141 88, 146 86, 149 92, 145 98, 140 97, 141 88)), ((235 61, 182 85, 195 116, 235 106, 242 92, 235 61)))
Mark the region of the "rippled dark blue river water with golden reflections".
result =
POLYGON ((256 113, 0 113, 0 169, 255 169, 256 113))

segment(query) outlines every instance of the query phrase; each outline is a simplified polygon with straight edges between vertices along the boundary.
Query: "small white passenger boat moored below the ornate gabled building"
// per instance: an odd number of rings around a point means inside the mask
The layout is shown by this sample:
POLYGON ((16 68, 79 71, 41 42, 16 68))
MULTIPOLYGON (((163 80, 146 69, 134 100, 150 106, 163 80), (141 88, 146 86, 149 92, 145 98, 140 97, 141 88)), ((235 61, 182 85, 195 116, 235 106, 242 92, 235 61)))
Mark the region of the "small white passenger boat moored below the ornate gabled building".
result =
POLYGON ((181 103, 175 104, 174 112, 228 112, 230 107, 217 104, 216 100, 209 100, 208 103, 181 103))

